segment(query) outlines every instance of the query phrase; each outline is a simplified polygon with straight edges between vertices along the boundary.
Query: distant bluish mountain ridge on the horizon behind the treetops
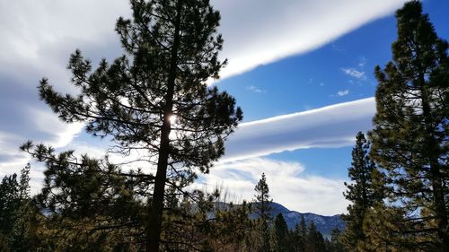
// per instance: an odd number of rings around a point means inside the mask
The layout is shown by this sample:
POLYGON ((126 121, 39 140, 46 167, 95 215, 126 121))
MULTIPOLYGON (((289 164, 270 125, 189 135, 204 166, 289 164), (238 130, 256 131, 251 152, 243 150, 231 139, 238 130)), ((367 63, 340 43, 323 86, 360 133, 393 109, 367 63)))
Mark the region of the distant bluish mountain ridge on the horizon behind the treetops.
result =
MULTIPOLYGON (((345 229, 345 222, 341 220, 339 214, 333 216, 322 216, 315 213, 298 213, 295 211, 290 211, 284 205, 277 204, 275 202, 271 203, 271 209, 273 217, 275 217, 277 213, 282 213, 282 216, 284 216, 284 219, 286 220, 286 225, 290 230, 295 229, 296 223, 301 222, 301 216, 303 215, 307 225, 311 221, 315 222, 316 229, 321 231, 321 234, 325 237, 330 237, 330 230, 335 228, 338 228, 339 230, 345 229)), ((250 217, 256 219, 258 214, 252 213, 250 217)))

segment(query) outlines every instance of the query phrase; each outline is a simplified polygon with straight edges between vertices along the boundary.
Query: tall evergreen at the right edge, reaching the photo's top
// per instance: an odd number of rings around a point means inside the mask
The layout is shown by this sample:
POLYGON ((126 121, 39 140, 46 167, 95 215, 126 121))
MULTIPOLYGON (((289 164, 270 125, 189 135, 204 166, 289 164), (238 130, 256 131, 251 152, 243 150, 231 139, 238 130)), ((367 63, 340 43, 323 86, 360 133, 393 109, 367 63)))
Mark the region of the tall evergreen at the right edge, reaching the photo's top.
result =
POLYGON ((385 168, 395 203, 386 210, 402 215, 401 223, 384 226, 403 227, 402 241, 416 250, 449 251, 448 43, 437 37, 418 1, 406 3, 396 18, 392 61, 375 68, 377 112, 370 135, 370 155, 385 168))

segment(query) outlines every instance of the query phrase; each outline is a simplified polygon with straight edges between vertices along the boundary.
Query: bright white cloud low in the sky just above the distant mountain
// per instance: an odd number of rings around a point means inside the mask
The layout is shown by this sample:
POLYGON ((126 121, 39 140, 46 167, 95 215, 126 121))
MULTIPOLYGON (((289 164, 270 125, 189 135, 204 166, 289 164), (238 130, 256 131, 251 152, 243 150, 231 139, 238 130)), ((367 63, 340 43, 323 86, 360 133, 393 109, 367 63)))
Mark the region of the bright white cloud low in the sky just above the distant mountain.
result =
POLYGON ((290 210, 332 215, 344 213, 348 202, 342 196, 343 180, 304 175, 304 166, 294 161, 251 158, 218 163, 201 176, 196 187, 225 185, 229 200, 250 200, 262 172, 267 176, 270 196, 290 210))

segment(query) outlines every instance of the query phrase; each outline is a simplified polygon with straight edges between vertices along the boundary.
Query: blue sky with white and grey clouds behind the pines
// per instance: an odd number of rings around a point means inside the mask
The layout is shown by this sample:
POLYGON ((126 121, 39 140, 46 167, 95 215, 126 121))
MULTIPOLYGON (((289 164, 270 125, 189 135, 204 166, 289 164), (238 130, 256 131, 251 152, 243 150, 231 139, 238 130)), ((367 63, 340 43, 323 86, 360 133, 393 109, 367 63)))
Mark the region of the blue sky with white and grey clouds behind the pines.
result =
MULTIPOLYGON (((221 11, 220 54, 229 63, 213 83, 242 107, 226 153, 196 187, 222 187, 251 200, 262 172, 277 203, 301 213, 345 213, 351 149, 372 126, 374 66, 391 59, 394 11, 404 0, 212 0, 221 11)), ((439 37, 449 39, 449 3, 423 1, 439 37)), ((42 77, 74 93, 66 70, 80 48, 93 63, 122 54, 115 21, 126 0, 0 0, 0 177, 30 161, 27 140, 101 157, 107 140, 67 125, 39 100, 42 77)), ((117 157, 119 159, 119 157, 117 157)), ((43 166, 32 163, 38 192, 43 166)))

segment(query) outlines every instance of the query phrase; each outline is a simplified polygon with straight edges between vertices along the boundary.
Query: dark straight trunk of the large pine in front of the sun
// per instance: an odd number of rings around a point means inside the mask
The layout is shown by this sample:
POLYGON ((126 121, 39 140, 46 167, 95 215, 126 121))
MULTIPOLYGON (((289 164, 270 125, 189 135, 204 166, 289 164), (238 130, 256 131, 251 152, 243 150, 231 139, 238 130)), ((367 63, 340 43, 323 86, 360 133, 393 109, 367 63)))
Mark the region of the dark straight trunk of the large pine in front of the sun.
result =
POLYGON ((167 167, 170 150, 170 132, 172 131, 171 117, 173 112, 173 96, 176 80, 176 69, 178 67, 178 48, 180 47, 180 13, 181 1, 176 4, 177 15, 174 23, 174 38, 172 55, 170 60, 170 73, 167 79, 167 94, 163 112, 163 126, 161 128, 161 145, 157 161, 156 177, 154 178, 154 194, 149 205, 148 225, 146 227, 146 251, 158 252, 161 243, 163 222, 163 198, 165 196, 165 180, 167 178, 167 167))

